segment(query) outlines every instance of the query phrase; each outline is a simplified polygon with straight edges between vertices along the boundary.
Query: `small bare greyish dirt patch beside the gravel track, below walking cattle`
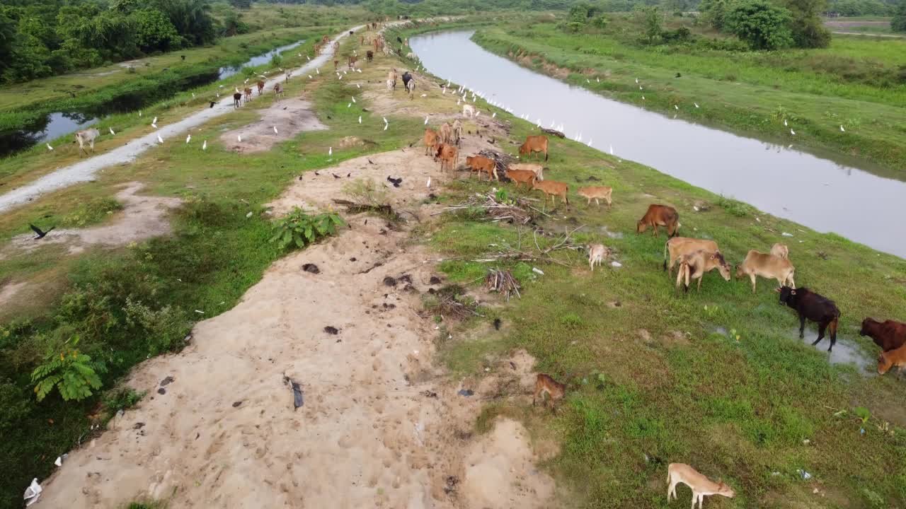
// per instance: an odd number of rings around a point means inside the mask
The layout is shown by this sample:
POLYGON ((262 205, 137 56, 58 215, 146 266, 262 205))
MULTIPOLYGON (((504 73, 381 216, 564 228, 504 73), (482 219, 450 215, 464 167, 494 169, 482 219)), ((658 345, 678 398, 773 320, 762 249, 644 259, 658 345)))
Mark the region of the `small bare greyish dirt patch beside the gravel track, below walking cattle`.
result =
MULTIPOLYGON (((255 96, 255 101, 273 100, 267 96, 255 96)), ((259 114, 261 120, 226 131, 220 135, 220 141, 227 149, 239 153, 262 152, 300 132, 327 129, 314 115, 312 103, 304 99, 274 101, 265 110, 259 110, 259 114)))

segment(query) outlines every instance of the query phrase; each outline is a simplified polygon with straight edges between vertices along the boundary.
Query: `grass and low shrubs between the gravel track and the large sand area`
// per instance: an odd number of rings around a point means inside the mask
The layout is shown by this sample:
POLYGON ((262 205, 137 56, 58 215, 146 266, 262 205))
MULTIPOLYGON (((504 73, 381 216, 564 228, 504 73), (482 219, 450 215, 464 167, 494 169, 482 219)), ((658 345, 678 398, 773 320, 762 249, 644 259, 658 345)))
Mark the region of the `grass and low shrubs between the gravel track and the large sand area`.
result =
MULTIPOLYGON (((257 154, 240 156, 224 149, 217 140, 221 130, 256 120, 255 110, 271 104, 267 97, 193 131, 190 145, 169 141, 133 164, 107 168, 97 182, 41 197, 0 217, 2 237, 8 239, 33 218, 70 216, 79 204, 112 197, 121 183, 133 180, 148 184, 142 193, 187 202, 172 216, 174 234, 166 238, 79 256, 48 246, 0 262, 0 281, 43 285, 35 302, 5 306, 0 328, 0 407, 5 408, 0 471, 7 473, 0 481, 0 507, 19 506, 32 477, 44 478, 57 455, 80 437, 82 442, 90 437, 88 416, 100 398, 63 402, 54 394, 35 401, 29 376, 47 352, 65 351, 63 341, 81 335, 79 350, 105 361, 104 388, 111 388, 140 360, 178 349, 194 322, 233 307, 281 255, 268 243, 270 217, 261 204, 277 197, 294 177, 418 138, 421 120, 387 115, 394 129, 383 131, 380 116, 346 107, 356 93, 352 82, 322 76, 326 79, 290 82, 288 94, 309 94, 330 130, 306 132, 257 154), (349 135, 378 144, 338 149, 338 139, 349 135), (200 149, 202 139, 208 140, 207 151, 200 149), (333 147, 333 160, 328 147, 333 147), (246 218, 248 212, 255 215, 246 218)), ((164 107, 149 111, 158 108, 164 107)), ((173 116, 190 110, 176 110, 173 116)), ((116 215, 103 217, 109 221, 116 215)))

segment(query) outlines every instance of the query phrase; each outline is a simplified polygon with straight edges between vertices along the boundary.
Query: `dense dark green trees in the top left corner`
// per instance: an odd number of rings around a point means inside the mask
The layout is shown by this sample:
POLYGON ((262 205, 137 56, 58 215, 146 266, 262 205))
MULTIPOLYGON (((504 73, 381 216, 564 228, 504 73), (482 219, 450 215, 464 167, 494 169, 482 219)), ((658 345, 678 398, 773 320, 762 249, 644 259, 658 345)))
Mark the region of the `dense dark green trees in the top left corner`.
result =
POLYGON ((12 0, 0 5, 0 82, 22 82, 242 34, 208 0, 12 0))

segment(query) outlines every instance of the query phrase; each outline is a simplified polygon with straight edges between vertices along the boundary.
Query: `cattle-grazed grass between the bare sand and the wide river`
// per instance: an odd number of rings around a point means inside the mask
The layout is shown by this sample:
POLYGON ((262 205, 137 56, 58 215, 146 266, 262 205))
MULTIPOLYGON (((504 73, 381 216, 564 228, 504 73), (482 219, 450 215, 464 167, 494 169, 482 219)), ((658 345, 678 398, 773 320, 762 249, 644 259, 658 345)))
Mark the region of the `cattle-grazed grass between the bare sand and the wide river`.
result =
MULTIPOLYGON (((512 119, 496 111, 498 119, 512 119)), ((525 122, 515 125, 513 139, 533 133, 525 122)), ((670 462, 690 463, 737 489, 732 501, 709 499, 715 507, 901 506, 906 412, 900 401, 906 387, 890 375, 865 376, 852 364, 830 364, 826 342, 816 349, 799 341, 795 313, 778 305, 776 282, 759 280, 753 294, 747 280, 727 283, 708 274, 700 293, 677 293, 661 272, 664 236, 636 235, 634 228, 649 204, 670 203, 679 209, 685 235, 717 240, 730 263, 749 249, 786 242, 796 282, 833 298, 843 312, 837 351, 847 345, 862 351, 868 371, 877 348, 858 336, 860 322, 864 316, 906 319, 906 262, 761 214, 655 169, 551 140, 545 178, 569 184, 573 207, 558 207, 556 216, 565 220, 542 223, 560 232, 584 225, 577 242, 615 248, 622 268, 592 274, 581 255, 571 255, 569 267, 531 264, 544 276, 532 274, 529 264, 502 264, 525 276, 523 298, 506 306, 501 332, 439 340, 448 367, 480 376, 498 369, 497 355, 525 348, 538 370, 573 385, 555 416, 501 399, 488 406, 479 429, 506 414, 529 422, 535 437, 558 441, 561 453, 547 466, 578 495, 577 506, 666 507, 670 462), (600 184, 589 183, 590 177, 600 184), (612 186, 612 210, 585 206, 574 194, 583 185, 612 186), (696 213, 695 200, 720 205, 696 213), (781 237, 782 231, 795 236, 781 237), (871 415, 868 424, 853 418, 860 407, 871 415), (835 417, 839 409, 847 416, 835 417), (876 426, 888 422, 895 433, 876 426), (805 481, 798 469, 814 477, 805 481)), ((506 142, 500 146, 516 152, 506 142)), ((460 183, 448 200, 487 187, 460 183)), ((522 238, 531 244, 530 234, 522 238)), ((488 265, 468 260, 500 249, 491 245, 516 241, 515 227, 487 223, 475 211, 448 216, 433 235, 433 245, 454 260, 441 268, 459 283, 475 284, 488 265)))

